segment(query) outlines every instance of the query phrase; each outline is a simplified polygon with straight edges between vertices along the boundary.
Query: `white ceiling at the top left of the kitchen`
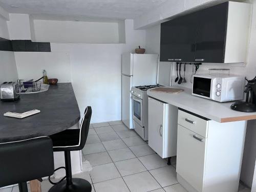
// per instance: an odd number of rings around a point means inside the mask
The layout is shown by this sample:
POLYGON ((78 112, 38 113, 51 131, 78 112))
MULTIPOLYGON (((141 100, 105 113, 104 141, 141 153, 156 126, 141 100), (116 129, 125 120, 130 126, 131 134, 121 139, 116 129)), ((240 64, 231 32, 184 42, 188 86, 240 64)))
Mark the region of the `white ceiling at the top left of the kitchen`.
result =
POLYGON ((10 13, 43 17, 129 19, 154 10, 168 0, 0 0, 10 13), (17 6, 17 7, 13 7, 17 6))

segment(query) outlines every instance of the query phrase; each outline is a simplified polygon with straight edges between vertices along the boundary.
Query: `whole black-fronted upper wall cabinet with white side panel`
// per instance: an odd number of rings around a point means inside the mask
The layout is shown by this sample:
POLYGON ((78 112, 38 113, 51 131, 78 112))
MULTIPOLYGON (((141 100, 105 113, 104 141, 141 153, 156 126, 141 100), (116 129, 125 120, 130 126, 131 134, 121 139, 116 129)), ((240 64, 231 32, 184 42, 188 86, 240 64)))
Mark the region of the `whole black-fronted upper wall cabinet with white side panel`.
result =
POLYGON ((160 61, 245 62, 250 10, 226 2, 162 23, 160 61))

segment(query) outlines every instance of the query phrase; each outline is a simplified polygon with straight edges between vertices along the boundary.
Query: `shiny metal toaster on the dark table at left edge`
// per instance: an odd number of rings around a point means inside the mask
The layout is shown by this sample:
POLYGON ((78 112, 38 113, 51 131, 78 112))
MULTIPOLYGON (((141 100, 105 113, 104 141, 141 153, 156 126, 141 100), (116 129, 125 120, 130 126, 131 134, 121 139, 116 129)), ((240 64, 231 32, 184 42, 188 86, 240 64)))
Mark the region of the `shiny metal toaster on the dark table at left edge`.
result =
POLYGON ((18 86, 15 82, 4 82, 0 86, 1 101, 15 101, 19 98, 18 86))

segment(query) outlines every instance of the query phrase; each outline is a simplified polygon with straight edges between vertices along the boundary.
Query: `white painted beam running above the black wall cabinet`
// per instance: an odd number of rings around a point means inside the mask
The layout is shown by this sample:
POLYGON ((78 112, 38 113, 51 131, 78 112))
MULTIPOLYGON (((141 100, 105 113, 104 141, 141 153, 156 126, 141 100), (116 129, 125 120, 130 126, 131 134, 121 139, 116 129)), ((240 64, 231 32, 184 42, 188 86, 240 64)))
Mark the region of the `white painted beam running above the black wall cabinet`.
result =
MULTIPOLYGON (((238 0, 243 2, 244 0, 238 0)), ((134 19, 134 29, 145 29, 180 14, 210 7, 227 0, 169 0, 160 7, 134 19)))

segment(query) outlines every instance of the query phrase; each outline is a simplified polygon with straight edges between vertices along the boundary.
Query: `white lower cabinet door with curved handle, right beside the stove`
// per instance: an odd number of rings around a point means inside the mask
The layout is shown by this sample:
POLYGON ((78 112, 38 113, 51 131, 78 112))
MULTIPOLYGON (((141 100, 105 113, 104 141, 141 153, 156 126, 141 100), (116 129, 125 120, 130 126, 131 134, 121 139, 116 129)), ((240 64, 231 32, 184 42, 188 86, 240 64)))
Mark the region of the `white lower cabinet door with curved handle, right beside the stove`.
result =
POLYGON ((163 157, 164 103, 148 98, 148 145, 163 157))

